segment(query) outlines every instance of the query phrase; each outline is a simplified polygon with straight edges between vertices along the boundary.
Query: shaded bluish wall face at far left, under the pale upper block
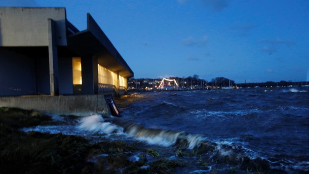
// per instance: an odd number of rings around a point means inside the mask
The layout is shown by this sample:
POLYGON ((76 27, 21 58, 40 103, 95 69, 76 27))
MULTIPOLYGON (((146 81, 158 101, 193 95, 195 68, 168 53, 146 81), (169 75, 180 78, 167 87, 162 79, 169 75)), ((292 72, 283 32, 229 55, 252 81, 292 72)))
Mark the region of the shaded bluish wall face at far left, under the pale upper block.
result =
POLYGON ((35 94, 34 59, 2 48, 0 57, 0 96, 35 94))

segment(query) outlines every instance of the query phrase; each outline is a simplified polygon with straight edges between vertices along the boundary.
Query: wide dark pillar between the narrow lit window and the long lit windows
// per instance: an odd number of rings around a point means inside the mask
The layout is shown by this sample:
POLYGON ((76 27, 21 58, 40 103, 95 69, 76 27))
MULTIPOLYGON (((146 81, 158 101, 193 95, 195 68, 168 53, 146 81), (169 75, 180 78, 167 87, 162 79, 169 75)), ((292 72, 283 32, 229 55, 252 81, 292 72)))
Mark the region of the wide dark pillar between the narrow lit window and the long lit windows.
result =
POLYGON ((82 56, 82 93, 98 94, 98 59, 82 56))

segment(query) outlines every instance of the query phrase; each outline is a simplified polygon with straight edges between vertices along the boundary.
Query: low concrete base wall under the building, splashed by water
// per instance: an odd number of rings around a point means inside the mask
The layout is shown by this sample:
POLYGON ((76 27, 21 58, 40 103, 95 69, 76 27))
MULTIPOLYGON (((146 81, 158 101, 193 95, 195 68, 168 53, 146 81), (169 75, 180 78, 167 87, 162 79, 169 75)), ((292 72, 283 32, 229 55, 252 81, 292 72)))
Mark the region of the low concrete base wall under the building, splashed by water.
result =
POLYGON ((0 97, 0 107, 33 109, 51 114, 109 115, 104 95, 0 97))

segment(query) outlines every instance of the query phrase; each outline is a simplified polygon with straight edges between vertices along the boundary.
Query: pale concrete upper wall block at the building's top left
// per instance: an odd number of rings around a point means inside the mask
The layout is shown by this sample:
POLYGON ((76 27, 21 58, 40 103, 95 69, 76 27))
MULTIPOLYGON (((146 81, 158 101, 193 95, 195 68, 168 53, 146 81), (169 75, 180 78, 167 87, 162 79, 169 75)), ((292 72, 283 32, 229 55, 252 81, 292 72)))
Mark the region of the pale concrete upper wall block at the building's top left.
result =
POLYGON ((0 7, 0 46, 48 46, 48 18, 56 24, 56 45, 66 46, 65 8, 0 7))

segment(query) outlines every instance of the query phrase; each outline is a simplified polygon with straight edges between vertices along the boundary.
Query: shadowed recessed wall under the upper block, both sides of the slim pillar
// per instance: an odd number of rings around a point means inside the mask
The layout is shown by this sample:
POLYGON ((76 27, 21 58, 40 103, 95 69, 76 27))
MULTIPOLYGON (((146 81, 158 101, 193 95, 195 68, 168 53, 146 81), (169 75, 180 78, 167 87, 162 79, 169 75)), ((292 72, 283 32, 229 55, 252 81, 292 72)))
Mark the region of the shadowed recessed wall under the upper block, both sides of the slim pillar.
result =
MULTIPOLYGON (((59 58, 59 92, 73 94, 72 58, 59 58)), ((0 48, 0 96, 49 95, 49 59, 0 48)))

